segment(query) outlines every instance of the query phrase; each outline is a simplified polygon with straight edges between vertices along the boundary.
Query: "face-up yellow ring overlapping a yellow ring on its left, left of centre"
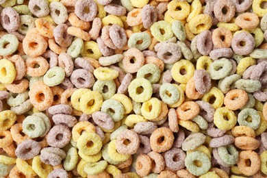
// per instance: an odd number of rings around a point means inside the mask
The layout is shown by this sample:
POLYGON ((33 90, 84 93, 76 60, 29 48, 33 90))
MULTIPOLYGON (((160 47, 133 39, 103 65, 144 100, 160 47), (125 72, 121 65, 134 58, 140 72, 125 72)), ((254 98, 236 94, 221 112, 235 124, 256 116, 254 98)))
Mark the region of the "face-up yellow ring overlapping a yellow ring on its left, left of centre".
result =
POLYGON ((102 103, 103 97, 97 91, 88 91, 79 99, 80 109, 84 114, 92 114, 99 111, 102 103))

